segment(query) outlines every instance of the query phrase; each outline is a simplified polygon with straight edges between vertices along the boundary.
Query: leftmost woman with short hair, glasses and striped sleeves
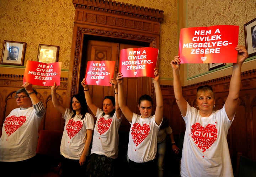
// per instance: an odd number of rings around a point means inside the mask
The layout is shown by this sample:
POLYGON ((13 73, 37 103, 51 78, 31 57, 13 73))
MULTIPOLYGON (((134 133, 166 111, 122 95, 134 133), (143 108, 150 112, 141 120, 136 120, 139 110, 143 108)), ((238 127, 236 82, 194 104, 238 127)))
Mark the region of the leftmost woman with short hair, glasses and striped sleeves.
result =
POLYGON ((7 176, 32 176, 38 128, 46 112, 32 84, 24 82, 16 92, 20 108, 5 118, 0 138, 0 167, 7 176))

